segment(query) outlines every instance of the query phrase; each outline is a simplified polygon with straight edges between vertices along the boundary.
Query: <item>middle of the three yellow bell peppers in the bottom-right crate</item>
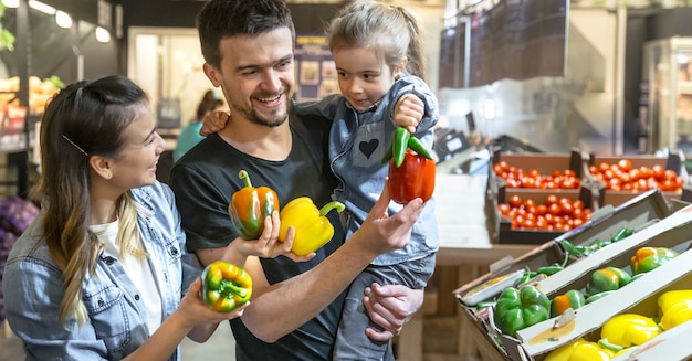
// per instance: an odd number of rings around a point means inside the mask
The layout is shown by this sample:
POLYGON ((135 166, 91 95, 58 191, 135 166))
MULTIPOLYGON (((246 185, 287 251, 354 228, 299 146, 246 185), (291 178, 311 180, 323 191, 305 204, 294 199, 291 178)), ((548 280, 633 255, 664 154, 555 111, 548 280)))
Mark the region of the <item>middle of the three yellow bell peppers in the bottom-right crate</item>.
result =
POLYGON ((642 344, 660 332, 659 326, 649 317, 621 314, 604 323, 600 329, 600 338, 606 344, 629 348, 642 344))

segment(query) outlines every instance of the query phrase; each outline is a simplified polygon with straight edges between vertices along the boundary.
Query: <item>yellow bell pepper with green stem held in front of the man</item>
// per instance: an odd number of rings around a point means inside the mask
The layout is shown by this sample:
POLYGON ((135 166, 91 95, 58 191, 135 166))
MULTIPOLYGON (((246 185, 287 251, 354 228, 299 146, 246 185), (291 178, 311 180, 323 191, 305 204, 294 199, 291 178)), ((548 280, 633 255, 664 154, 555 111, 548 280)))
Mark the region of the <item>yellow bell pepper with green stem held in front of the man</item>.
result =
POLYGON ((333 201, 317 210, 310 198, 298 197, 281 209, 279 241, 285 241, 289 227, 293 226, 295 237, 291 251, 298 256, 315 252, 334 236, 334 226, 325 215, 333 209, 342 212, 345 208, 344 203, 333 201))

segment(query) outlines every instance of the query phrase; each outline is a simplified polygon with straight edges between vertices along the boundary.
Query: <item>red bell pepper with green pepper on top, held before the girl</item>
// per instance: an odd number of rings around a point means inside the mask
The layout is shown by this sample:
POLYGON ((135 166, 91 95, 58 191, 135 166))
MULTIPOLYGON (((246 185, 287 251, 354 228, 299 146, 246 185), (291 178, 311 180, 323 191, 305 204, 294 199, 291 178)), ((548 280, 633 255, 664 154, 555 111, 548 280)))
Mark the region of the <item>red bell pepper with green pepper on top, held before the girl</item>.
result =
POLYGON ((385 160, 389 160, 391 200, 406 204, 416 198, 428 201, 434 191, 436 164, 430 151, 406 128, 397 128, 385 160))

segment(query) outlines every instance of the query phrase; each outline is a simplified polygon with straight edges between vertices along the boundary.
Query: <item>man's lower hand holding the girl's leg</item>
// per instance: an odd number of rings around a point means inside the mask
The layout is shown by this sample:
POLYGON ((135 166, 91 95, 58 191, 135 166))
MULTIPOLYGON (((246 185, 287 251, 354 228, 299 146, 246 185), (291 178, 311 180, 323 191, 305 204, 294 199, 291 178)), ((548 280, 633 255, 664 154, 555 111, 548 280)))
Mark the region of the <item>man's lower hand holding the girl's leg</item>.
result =
POLYGON ((363 304, 373 322, 382 331, 367 328, 366 335, 374 341, 388 341, 399 335, 403 325, 413 317, 423 305, 423 290, 410 289, 400 285, 380 286, 374 283, 365 289, 363 304))

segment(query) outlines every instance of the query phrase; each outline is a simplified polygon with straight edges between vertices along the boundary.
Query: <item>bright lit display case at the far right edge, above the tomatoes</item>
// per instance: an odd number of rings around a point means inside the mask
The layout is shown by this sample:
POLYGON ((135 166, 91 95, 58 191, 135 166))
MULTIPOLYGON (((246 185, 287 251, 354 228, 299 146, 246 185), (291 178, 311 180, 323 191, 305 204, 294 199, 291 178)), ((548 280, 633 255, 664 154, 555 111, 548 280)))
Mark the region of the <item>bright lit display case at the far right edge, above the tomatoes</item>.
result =
POLYGON ((679 150, 692 159, 692 38, 673 36, 644 44, 642 129, 648 151, 679 150))

